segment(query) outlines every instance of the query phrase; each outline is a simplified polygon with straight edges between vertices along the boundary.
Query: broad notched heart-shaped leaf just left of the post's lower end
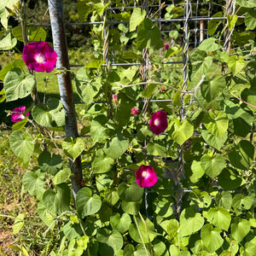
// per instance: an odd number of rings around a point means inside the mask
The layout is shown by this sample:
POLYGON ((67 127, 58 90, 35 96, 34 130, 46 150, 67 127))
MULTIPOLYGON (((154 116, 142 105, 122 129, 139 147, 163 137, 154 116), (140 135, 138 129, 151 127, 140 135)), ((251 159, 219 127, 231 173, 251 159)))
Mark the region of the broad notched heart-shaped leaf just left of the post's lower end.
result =
POLYGON ((55 190, 46 190, 43 195, 43 202, 49 212, 61 214, 69 211, 70 189, 67 183, 56 185, 55 190))

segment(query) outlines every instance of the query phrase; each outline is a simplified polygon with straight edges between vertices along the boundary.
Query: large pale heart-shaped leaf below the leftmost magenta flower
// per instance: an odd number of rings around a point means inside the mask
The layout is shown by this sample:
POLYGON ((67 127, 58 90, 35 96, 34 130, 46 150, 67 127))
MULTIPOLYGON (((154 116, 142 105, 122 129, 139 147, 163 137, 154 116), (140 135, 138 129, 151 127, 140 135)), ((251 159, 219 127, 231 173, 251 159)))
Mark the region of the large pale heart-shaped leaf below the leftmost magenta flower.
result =
POLYGON ((31 135, 26 131, 13 131, 9 137, 9 147, 25 163, 30 160, 34 152, 34 143, 31 135))

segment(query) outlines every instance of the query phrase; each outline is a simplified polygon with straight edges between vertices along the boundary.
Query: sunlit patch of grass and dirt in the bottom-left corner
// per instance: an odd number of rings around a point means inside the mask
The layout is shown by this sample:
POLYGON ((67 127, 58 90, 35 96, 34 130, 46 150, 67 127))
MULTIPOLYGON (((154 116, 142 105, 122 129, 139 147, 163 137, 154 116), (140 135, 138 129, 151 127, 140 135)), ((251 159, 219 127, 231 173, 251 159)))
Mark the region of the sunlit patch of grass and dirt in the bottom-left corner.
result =
POLYGON ((29 255, 48 255, 58 238, 51 232, 43 236, 47 227, 38 217, 35 199, 27 193, 21 196, 26 169, 19 165, 9 149, 9 133, 8 130, 0 130, 0 255, 17 255, 21 247, 29 255), (26 215, 25 225, 19 234, 14 235, 12 225, 21 212, 26 215))

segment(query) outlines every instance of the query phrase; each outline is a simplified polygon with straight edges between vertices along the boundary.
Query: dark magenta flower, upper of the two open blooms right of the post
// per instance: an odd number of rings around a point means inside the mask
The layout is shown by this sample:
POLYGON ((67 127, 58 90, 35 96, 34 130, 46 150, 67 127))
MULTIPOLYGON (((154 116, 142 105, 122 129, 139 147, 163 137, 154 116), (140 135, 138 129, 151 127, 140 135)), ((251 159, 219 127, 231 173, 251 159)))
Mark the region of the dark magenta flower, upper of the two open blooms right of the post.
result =
POLYGON ((150 130, 153 131, 156 135, 166 131, 166 128, 168 127, 166 112, 160 110, 156 113, 153 113, 149 121, 149 125, 150 130))

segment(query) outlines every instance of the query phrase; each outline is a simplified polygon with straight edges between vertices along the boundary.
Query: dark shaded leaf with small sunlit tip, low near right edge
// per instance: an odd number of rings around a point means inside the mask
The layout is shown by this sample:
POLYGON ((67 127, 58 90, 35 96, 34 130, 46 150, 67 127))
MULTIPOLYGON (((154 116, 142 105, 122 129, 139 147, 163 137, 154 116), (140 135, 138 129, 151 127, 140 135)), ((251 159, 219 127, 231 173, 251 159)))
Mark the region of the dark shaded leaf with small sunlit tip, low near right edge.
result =
POLYGON ((245 182, 241 174, 232 168, 224 168, 218 175, 218 184, 225 190, 240 188, 245 182))

